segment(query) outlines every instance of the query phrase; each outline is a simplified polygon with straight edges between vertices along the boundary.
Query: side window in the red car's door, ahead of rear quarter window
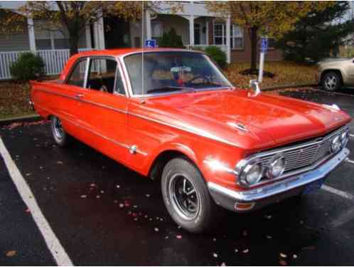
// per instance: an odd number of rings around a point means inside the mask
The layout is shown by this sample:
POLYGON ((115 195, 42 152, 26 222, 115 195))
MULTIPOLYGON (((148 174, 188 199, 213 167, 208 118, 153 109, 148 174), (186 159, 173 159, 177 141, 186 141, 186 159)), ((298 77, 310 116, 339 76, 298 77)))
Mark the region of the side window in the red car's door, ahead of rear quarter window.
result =
POLYGON ((114 92, 117 61, 109 58, 91 58, 86 87, 104 93, 114 92))

